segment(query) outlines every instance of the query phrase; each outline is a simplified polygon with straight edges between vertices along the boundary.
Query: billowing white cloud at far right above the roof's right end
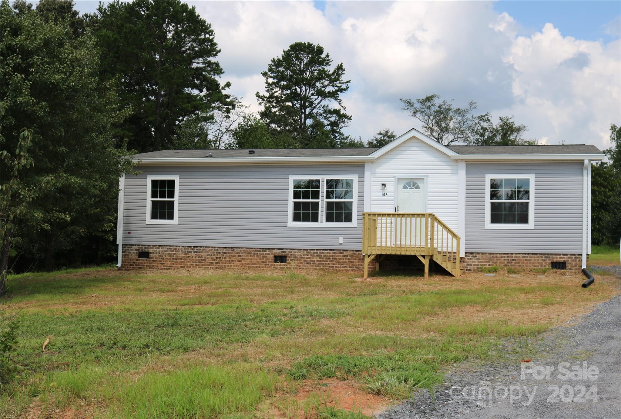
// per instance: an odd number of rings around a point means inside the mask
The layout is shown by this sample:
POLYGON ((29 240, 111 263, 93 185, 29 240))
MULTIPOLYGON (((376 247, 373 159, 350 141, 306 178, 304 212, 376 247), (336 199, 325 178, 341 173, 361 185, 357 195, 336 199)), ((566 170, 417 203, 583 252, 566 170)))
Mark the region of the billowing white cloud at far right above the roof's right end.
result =
POLYGON ((563 37, 552 24, 515 38, 505 55, 512 65, 511 112, 533 137, 548 143, 608 146, 609 127, 621 118, 621 41, 563 37))

